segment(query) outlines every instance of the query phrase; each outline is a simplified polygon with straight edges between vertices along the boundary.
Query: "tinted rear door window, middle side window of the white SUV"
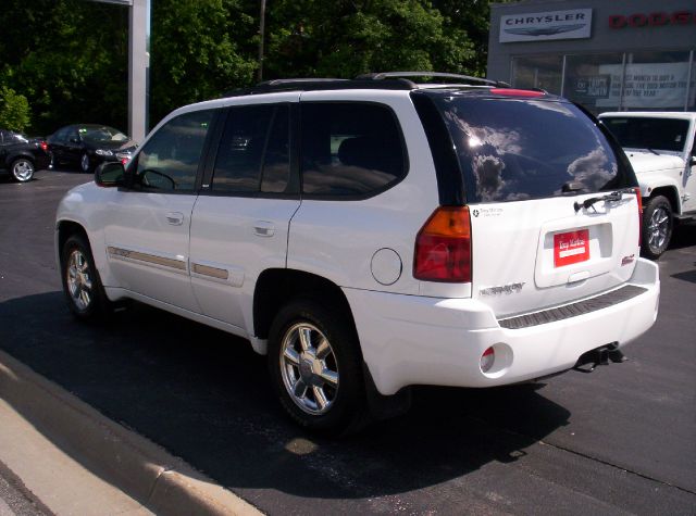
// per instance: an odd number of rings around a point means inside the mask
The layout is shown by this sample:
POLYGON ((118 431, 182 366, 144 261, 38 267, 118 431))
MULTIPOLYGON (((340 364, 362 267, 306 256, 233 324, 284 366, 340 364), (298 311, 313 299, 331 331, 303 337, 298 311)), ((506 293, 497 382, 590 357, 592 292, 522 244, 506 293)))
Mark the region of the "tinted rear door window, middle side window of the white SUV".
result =
POLYGON ((211 189, 283 192, 289 177, 287 105, 231 108, 220 141, 211 189))

